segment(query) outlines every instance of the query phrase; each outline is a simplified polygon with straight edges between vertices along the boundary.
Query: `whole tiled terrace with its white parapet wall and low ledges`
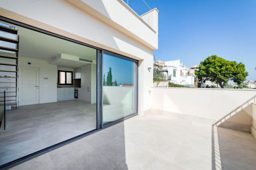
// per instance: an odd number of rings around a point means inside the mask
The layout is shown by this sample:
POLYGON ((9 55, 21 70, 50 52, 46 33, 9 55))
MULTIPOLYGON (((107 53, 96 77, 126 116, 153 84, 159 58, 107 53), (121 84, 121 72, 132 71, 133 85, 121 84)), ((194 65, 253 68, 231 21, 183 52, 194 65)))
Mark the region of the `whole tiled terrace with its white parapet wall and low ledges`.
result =
POLYGON ((13 169, 255 169, 256 139, 247 127, 256 125, 256 90, 151 90, 153 104, 147 115, 126 119, 13 169))

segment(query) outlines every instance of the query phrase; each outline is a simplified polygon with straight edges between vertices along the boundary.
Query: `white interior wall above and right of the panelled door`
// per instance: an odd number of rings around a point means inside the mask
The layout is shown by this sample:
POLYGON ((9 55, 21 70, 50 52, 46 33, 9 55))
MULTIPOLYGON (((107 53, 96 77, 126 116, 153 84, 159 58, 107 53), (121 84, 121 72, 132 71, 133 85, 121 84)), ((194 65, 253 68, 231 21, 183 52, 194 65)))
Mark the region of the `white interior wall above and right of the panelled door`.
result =
MULTIPOLYGON (((39 68, 39 103, 57 101, 57 65, 49 64, 47 60, 19 56, 19 66, 39 68), (31 64, 28 64, 31 62, 31 64), (43 79, 48 76, 48 79, 43 79), (48 86, 42 86, 48 85, 48 86)), ((19 84, 19 83, 18 83, 19 84)), ((18 98, 18 97, 17 97, 18 98)))

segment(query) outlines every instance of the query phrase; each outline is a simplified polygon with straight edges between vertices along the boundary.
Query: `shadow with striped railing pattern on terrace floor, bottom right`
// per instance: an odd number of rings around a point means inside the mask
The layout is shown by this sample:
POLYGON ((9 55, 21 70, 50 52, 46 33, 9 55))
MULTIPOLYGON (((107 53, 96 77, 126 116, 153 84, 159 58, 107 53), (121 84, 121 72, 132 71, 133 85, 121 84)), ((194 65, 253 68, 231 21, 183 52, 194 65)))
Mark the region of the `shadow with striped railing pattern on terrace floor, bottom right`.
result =
POLYGON ((247 132, 213 125, 212 169, 256 169, 256 139, 247 132))

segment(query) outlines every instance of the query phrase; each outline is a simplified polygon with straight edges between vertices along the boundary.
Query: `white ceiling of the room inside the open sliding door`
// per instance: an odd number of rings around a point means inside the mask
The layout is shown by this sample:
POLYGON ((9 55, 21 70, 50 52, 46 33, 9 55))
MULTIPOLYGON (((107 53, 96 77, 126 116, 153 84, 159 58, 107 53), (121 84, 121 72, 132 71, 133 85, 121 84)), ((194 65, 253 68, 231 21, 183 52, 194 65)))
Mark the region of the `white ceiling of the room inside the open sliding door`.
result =
MULTIPOLYGON (((20 35, 19 56, 50 61, 52 57, 64 53, 96 60, 96 49, 94 48, 30 30, 21 26, 17 27, 18 34, 20 35)), ((81 65, 81 62, 82 61, 73 61, 68 66, 67 64, 58 64, 58 66, 76 68, 77 65, 81 65)))

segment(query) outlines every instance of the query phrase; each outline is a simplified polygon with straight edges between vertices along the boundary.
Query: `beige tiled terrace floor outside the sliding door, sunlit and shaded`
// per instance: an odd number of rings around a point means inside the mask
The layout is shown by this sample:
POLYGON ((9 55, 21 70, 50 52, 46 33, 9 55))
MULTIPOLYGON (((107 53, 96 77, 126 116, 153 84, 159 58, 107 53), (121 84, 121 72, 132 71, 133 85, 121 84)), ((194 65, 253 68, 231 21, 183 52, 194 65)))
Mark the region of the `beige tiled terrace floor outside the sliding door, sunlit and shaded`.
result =
POLYGON ((256 169, 256 139, 164 115, 138 115, 12 169, 256 169))

